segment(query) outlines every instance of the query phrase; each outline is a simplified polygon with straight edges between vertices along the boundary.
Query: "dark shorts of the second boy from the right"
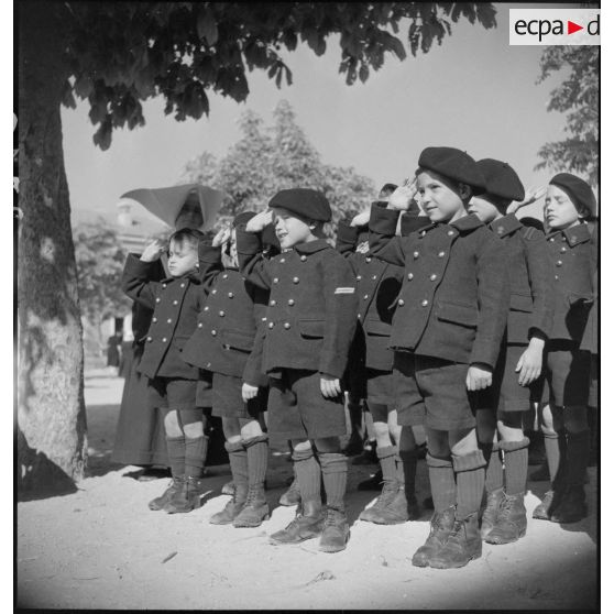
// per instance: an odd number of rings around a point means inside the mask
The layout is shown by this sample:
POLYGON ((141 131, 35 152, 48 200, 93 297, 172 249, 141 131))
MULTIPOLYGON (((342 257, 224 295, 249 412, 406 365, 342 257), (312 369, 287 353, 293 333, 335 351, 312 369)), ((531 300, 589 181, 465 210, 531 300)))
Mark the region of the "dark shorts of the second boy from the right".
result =
POLYGON ((527 412, 531 408, 531 397, 539 384, 520 386, 516 365, 527 346, 507 346, 502 348, 493 373, 493 383, 486 390, 470 395, 476 409, 496 410, 498 417, 505 412, 527 412))

